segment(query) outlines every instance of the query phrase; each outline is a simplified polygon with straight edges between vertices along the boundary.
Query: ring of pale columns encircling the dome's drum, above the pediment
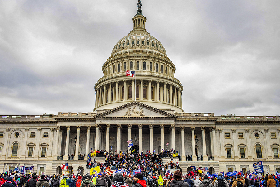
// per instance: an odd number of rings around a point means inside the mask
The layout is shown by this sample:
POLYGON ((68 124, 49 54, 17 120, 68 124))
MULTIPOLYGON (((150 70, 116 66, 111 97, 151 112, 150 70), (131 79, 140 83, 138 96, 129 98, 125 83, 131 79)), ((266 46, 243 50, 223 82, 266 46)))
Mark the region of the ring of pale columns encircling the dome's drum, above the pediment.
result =
MULTIPOLYGON (((139 91, 139 98, 140 100, 143 100, 143 79, 140 79, 140 91, 139 91)), ((132 100, 135 100, 135 80, 132 79, 132 100)), ((148 80, 149 85, 147 86, 147 100, 152 101, 152 80, 148 80)), ((119 81, 115 82, 115 86, 112 87, 112 83, 109 83, 109 91, 108 91, 108 103, 110 102, 114 102, 114 101, 120 101, 120 100, 128 100, 127 96, 128 96, 128 90, 127 90, 127 80, 123 80, 123 85, 124 85, 124 98, 121 98, 121 84, 119 84, 119 81), (113 99, 112 99, 112 94, 111 94, 111 89, 113 88, 113 99), (112 100, 112 101, 111 101, 112 100)), ((163 86, 160 86, 160 82, 156 81, 155 84, 156 89, 153 90, 154 92, 154 100, 155 101, 161 101, 161 102, 165 102, 165 103, 171 103, 174 105, 177 105, 179 107, 182 107, 182 92, 181 90, 172 85, 169 84, 169 98, 167 98, 168 95, 168 89, 166 89, 166 82, 163 83, 163 86), (174 88, 174 89, 173 89, 174 88), (174 91, 173 91, 173 90, 174 91), (163 93, 164 92, 164 93, 163 93), (172 96, 172 93, 174 94, 174 96, 172 96), (160 95, 161 94, 161 95, 160 95), (178 95, 178 98, 177 98, 178 95), (169 99, 169 102, 168 102, 169 99)), ((106 89, 106 84, 98 87, 96 89, 96 103, 95 106, 99 106, 101 104, 105 104, 107 103, 107 90, 106 89)))

